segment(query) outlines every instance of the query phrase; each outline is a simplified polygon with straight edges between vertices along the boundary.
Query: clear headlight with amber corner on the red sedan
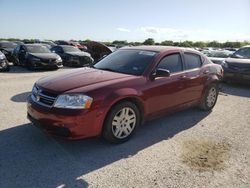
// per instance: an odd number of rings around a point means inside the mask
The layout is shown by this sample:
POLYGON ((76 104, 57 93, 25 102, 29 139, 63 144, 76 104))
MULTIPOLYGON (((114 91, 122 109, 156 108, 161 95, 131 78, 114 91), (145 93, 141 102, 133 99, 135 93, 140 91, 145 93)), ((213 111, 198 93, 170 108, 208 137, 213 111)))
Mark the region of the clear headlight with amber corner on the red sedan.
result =
POLYGON ((93 98, 81 94, 59 95, 54 107, 70 109, 89 109, 93 98))

